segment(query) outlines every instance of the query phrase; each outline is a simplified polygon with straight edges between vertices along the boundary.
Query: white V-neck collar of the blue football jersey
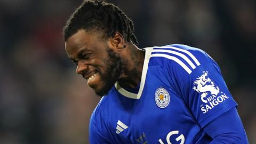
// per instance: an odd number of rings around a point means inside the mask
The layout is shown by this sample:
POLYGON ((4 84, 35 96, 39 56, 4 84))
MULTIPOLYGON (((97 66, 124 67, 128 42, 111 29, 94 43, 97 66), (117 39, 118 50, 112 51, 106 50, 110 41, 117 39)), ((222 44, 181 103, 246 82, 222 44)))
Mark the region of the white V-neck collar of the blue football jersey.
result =
POLYGON ((149 62, 149 58, 151 55, 151 51, 153 50, 153 47, 146 47, 146 48, 143 48, 143 50, 145 50, 146 52, 145 52, 145 59, 143 63, 143 69, 142 69, 142 75, 141 75, 141 81, 140 81, 140 89, 138 94, 126 91, 123 87, 121 87, 118 84, 118 82, 115 83, 116 90, 127 98, 140 99, 141 97, 141 94, 145 85, 145 81, 146 81, 146 75, 148 71, 148 62, 149 62))

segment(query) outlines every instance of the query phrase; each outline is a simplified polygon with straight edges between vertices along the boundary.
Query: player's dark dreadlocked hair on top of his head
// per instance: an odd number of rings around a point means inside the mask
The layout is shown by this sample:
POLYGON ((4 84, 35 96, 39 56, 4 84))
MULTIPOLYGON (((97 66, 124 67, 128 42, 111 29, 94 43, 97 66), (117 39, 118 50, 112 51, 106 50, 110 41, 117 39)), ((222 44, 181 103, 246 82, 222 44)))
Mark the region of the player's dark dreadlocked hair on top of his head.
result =
POLYGON ((63 28, 65 42, 79 29, 102 30, 107 37, 118 31, 127 42, 138 44, 132 20, 119 7, 102 0, 85 0, 76 9, 63 28))

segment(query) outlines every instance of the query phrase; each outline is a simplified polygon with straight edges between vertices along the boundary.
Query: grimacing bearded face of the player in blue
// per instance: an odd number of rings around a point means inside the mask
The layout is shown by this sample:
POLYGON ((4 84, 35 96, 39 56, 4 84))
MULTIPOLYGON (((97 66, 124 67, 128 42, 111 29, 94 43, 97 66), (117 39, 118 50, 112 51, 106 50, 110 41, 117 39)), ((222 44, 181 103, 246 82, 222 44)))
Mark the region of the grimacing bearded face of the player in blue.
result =
POLYGON ((77 65, 76 73, 100 96, 107 94, 122 70, 121 58, 108 42, 95 33, 78 30, 65 43, 69 59, 77 65))

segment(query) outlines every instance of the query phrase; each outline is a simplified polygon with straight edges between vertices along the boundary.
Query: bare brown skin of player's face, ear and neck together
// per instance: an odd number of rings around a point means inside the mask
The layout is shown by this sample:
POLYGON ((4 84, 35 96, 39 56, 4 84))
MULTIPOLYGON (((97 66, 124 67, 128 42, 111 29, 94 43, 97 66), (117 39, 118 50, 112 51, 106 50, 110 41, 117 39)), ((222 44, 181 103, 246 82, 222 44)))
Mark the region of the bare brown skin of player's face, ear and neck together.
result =
POLYGON ((106 73, 115 73, 115 69, 109 70, 111 57, 107 51, 114 53, 122 63, 120 73, 116 74, 119 85, 127 88, 138 86, 145 51, 125 41, 122 34, 116 32, 114 37, 104 38, 100 31, 81 29, 67 39, 65 47, 69 59, 77 65, 76 73, 87 79, 88 85, 96 93, 106 87, 107 82, 103 81, 106 73))

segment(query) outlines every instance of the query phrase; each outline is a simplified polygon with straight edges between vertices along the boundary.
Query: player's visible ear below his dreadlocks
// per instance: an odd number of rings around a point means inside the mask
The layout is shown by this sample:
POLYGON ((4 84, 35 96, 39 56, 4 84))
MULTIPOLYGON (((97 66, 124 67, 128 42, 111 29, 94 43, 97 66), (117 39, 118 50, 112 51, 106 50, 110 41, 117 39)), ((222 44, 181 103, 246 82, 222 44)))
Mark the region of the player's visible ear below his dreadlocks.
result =
POLYGON ((123 48, 126 47, 123 35, 119 32, 116 32, 115 36, 110 38, 110 45, 116 51, 122 51, 123 48))

